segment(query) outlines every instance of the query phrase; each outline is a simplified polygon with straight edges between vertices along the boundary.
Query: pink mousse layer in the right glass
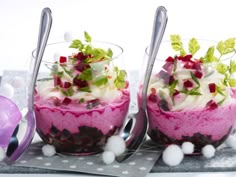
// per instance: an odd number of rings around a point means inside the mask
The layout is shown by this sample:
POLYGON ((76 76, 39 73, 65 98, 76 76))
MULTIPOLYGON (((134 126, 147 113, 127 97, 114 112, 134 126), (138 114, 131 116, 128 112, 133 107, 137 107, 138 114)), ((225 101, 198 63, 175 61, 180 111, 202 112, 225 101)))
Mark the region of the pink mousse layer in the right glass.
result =
POLYGON ((147 101, 150 129, 156 127, 170 138, 181 140, 182 136, 195 133, 211 135, 219 140, 228 133, 236 118, 236 103, 219 106, 216 109, 188 111, 163 111, 157 103, 147 101))

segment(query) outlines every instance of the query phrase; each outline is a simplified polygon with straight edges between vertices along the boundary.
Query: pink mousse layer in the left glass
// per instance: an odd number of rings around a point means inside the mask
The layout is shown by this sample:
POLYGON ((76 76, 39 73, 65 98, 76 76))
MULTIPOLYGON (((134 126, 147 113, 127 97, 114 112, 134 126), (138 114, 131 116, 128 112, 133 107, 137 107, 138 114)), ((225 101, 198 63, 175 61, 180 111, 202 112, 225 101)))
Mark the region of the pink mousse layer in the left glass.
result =
POLYGON ((111 103, 102 103, 96 108, 87 109, 86 103, 71 103, 68 106, 55 106, 52 99, 35 97, 37 128, 45 135, 52 125, 58 130, 67 129, 70 133, 79 133, 78 127, 95 127, 106 134, 113 127, 121 127, 128 112, 130 93, 122 92, 120 99, 111 103))

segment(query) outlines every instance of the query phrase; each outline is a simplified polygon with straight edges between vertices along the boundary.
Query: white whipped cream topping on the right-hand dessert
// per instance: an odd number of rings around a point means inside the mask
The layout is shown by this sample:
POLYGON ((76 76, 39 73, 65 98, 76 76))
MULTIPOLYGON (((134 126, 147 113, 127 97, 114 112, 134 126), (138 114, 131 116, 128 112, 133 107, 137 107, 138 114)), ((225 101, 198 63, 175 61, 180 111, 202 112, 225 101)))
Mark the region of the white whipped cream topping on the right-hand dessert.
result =
MULTIPOLYGON (((217 72, 214 63, 200 64, 200 70, 202 76, 197 78, 198 83, 193 79, 192 73, 196 72, 195 69, 188 69, 184 67, 185 62, 177 60, 175 63, 175 71, 171 68, 173 79, 177 81, 175 90, 180 91, 176 95, 171 95, 171 86, 165 83, 165 80, 160 77, 159 74, 151 76, 148 88, 148 95, 152 94, 152 89, 156 90, 157 95, 161 94, 161 97, 168 103, 168 108, 171 111, 190 110, 190 109, 201 109, 206 107, 209 101, 214 101, 218 105, 226 105, 231 102, 231 89, 222 85, 224 75, 217 72), (184 88, 184 82, 190 81, 192 86, 184 88), (222 94, 214 92, 212 93, 209 89, 209 85, 214 83, 217 87, 220 87, 222 94), (198 94, 186 94, 181 90, 191 90, 197 88, 198 94)), ((169 70, 167 70, 169 72, 169 70)), ((169 73, 170 74, 170 73, 169 73)), ((173 93, 172 93, 173 94, 173 93)))

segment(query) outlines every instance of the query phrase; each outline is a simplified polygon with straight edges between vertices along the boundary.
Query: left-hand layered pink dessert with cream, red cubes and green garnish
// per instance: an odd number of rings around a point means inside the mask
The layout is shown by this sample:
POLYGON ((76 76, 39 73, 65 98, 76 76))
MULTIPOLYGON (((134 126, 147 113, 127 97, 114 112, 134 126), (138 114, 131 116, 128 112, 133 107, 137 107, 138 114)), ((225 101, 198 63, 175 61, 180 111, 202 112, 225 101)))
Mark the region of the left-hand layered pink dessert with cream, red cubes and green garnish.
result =
POLYGON ((57 152, 72 155, 101 152, 121 128, 130 102, 126 71, 116 65, 122 49, 110 43, 97 47, 84 34, 85 41, 67 46, 70 54, 43 62, 50 75, 38 79, 35 91, 38 134, 57 152))

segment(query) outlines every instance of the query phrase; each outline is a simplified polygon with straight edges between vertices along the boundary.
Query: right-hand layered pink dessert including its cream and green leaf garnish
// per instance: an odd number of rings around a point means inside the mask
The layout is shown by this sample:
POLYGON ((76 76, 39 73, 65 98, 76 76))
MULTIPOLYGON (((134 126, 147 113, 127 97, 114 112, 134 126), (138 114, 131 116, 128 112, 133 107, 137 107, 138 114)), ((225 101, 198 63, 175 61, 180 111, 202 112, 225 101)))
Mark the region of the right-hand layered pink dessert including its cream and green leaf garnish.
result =
POLYGON ((236 62, 228 58, 235 53, 235 41, 220 41, 197 56, 197 39, 189 40, 187 53, 181 37, 171 35, 176 54, 156 61, 163 65, 149 82, 148 135, 153 141, 164 147, 189 141, 195 152, 206 144, 217 147, 224 142, 236 118, 236 62))

